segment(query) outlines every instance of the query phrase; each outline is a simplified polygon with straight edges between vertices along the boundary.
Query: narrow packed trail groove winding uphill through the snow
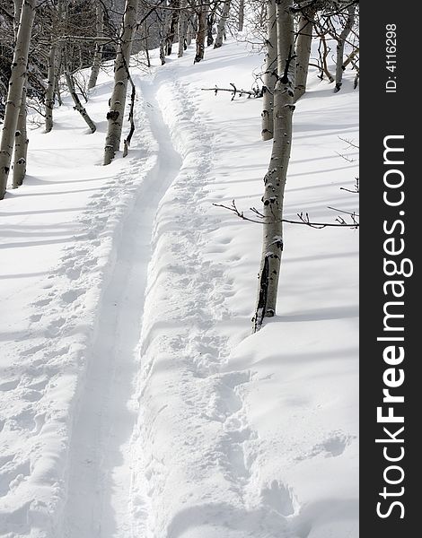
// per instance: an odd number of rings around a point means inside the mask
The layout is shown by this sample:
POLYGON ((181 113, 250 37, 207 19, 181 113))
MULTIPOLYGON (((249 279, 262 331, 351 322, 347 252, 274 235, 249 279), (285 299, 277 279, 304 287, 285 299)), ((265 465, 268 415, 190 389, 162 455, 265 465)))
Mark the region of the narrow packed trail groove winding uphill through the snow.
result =
MULTIPOLYGON (((134 379, 146 268, 154 215, 181 162, 163 124, 153 86, 140 77, 136 85, 150 120, 149 126, 138 128, 151 127, 155 163, 123 224, 114 269, 101 299, 92 358, 72 433, 66 507, 69 538, 131 535, 130 438, 136 421, 134 379)), ((139 167, 131 173, 136 172, 139 167)))

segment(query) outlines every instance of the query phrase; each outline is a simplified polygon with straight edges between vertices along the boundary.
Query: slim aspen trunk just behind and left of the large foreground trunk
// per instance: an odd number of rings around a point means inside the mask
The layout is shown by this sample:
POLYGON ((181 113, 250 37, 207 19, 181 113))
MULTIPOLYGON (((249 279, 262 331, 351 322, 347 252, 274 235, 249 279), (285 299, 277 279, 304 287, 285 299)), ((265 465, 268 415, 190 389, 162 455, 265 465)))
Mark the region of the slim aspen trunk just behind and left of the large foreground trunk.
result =
POLYGON ((277 82, 276 0, 267 1, 267 54, 262 88, 262 140, 270 140, 274 131, 274 89, 277 82))

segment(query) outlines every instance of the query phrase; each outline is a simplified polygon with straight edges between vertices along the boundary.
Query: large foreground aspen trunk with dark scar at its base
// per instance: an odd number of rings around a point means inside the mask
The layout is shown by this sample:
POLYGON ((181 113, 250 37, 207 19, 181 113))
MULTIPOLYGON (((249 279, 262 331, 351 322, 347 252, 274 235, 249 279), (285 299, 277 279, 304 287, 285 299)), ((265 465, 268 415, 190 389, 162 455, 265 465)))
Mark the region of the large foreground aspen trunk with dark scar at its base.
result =
POLYGON ((287 167, 292 145, 292 116, 295 106, 294 24, 292 0, 278 0, 277 71, 274 93, 274 140, 268 172, 264 178, 264 224, 259 290, 253 331, 264 317, 273 317, 277 306, 278 278, 283 252, 283 203, 287 167))

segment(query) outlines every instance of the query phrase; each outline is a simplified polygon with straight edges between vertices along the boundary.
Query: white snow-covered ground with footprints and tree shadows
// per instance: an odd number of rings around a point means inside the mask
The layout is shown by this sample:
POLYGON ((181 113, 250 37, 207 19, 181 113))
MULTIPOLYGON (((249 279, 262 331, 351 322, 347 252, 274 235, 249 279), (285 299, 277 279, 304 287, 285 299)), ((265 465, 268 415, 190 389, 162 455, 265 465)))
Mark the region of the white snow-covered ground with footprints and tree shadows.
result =
MULTIPOLYGON (((260 100, 200 89, 250 87, 261 58, 193 54, 134 69, 108 167, 110 74, 95 134, 65 100, 1 203, 4 538, 357 537, 357 232, 286 224, 251 334, 262 230, 213 204, 259 207, 271 142, 260 100)), ((286 218, 356 210, 351 82, 312 73, 294 122, 286 218)))

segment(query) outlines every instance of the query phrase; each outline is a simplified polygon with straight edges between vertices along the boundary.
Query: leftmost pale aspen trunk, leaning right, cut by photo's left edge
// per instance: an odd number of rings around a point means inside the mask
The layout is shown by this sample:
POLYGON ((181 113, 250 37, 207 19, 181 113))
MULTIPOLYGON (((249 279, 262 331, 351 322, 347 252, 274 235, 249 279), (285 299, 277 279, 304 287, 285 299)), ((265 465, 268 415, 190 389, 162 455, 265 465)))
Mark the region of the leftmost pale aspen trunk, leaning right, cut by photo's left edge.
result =
POLYGON ((26 78, 28 52, 36 5, 36 0, 23 0, 22 3, 16 46, 13 52, 12 73, 9 80, 4 110, 2 140, 0 143, 0 200, 4 198, 12 161, 14 137, 21 107, 23 84, 26 78))

